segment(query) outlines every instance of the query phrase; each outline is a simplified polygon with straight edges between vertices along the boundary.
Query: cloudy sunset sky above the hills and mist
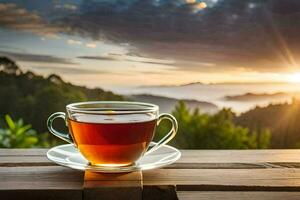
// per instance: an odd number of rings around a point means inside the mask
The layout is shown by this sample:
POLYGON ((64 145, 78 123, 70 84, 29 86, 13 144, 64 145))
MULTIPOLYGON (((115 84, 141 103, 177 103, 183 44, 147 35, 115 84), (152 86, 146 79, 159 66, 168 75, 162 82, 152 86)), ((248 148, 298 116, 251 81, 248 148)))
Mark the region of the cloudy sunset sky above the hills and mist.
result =
POLYGON ((0 55, 91 87, 300 82, 300 1, 0 0, 0 55))

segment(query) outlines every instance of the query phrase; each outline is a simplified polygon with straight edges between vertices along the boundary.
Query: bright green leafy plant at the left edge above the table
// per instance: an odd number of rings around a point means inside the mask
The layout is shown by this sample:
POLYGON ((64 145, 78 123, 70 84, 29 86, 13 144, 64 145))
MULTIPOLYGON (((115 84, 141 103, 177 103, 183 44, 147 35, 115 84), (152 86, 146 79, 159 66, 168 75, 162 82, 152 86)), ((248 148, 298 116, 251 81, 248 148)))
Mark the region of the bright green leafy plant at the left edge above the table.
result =
POLYGON ((22 119, 13 121, 5 115, 6 128, 0 128, 0 148, 28 148, 38 143, 36 132, 22 119))

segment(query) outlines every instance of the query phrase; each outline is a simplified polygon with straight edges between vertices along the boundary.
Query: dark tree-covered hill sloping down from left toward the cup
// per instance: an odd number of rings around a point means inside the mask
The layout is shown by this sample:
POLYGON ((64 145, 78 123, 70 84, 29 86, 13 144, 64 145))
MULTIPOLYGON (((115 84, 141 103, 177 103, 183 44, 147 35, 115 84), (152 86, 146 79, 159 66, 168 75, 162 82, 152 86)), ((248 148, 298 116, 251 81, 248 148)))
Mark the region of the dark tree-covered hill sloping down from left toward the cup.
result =
MULTIPOLYGON (((101 88, 89 89, 67 83, 56 74, 45 78, 30 71, 23 72, 7 57, 0 57, 0 99, 0 119, 5 114, 22 118, 38 132, 46 132, 49 115, 65 111, 65 106, 69 103, 124 100, 122 96, 101 88)), ((61 125, 60 128, 62 127, 61 125)))

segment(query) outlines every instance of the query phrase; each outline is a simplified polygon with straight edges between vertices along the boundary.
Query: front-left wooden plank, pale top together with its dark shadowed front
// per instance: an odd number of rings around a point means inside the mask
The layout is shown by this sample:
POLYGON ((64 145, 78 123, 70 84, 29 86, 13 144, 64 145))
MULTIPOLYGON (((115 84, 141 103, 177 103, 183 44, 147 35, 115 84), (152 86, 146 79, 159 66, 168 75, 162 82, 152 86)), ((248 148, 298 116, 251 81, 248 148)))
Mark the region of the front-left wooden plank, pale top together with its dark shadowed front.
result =
POLYGON ((1 199, 82 199, 83 173, 65 167, 0 167, 1 199))

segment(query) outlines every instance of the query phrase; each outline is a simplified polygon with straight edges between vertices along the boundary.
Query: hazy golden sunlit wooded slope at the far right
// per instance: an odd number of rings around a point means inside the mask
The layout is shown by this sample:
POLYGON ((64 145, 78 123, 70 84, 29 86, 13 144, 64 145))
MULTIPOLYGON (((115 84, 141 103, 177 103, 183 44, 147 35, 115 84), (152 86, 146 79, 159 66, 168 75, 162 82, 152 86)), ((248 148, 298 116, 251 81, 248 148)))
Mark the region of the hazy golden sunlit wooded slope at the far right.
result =
MULTIPOLYGON (((236 124, 260 135, 266 129, 272 133, 272 148, 298 148, 300 144, 300 100, 291 103, 256 107, 234 119, 236 124)), ((263 136, 260 137, 263 139, 263 136)))

